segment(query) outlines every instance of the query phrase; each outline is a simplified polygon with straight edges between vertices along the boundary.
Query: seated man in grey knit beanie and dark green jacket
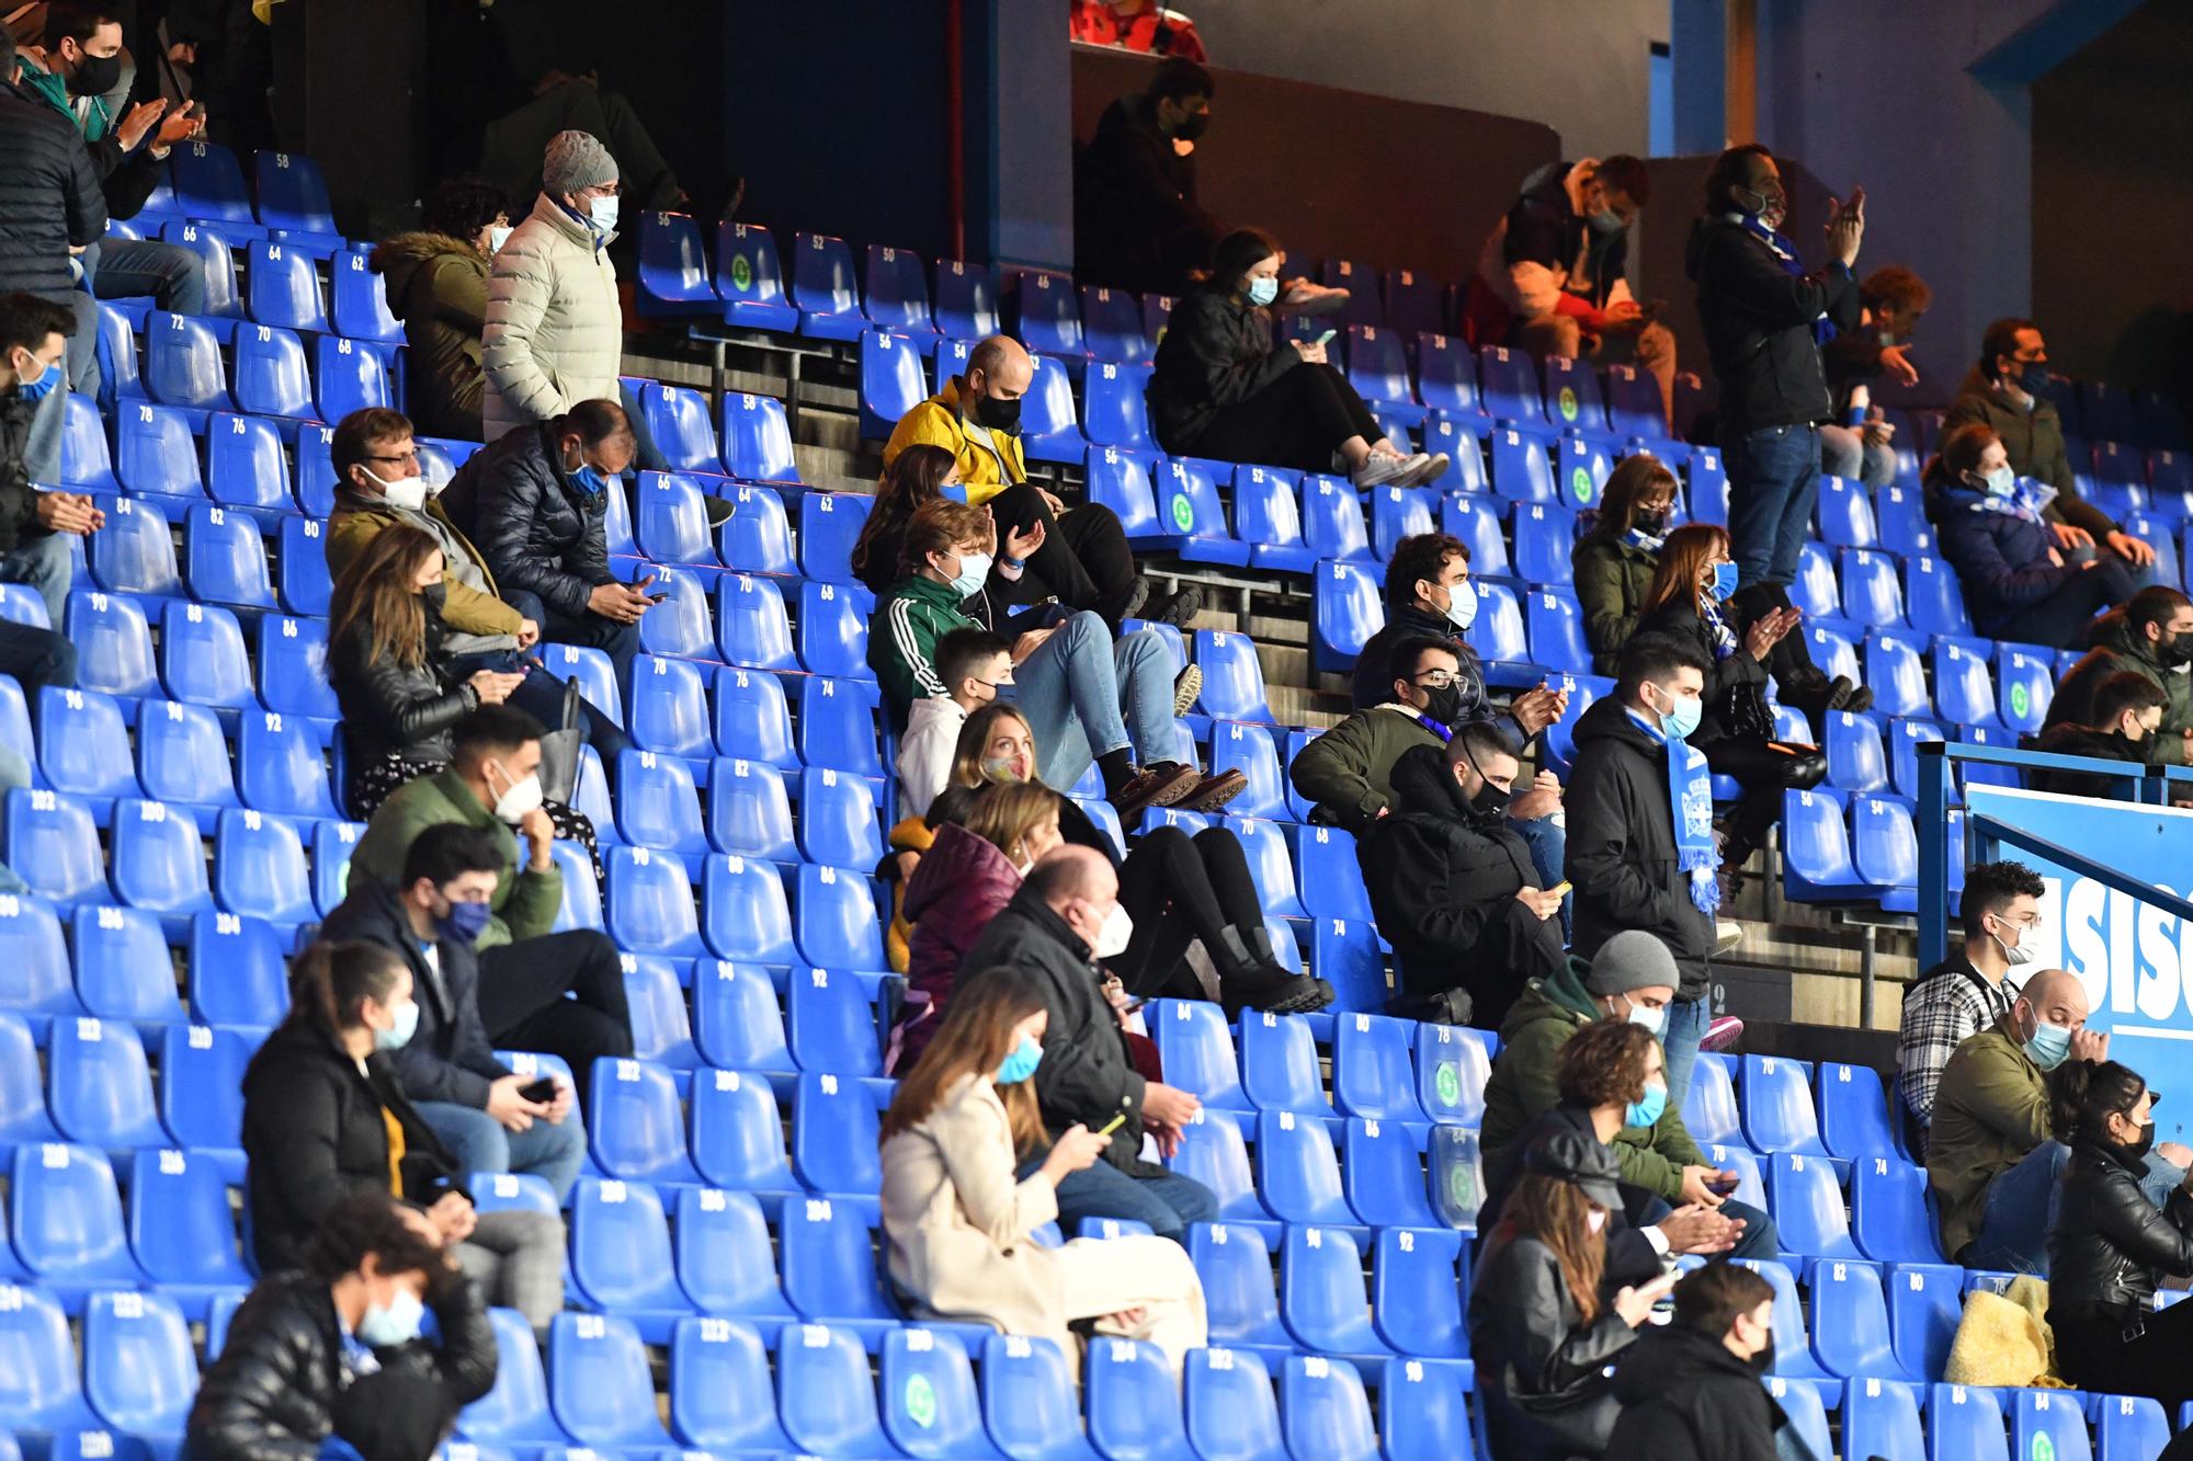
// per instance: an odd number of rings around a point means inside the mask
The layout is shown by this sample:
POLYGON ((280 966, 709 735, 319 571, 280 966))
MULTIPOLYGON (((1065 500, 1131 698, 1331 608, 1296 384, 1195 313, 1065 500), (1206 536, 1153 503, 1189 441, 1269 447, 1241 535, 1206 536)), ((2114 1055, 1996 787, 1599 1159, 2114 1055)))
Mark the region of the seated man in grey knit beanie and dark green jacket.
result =
MULTIPOLYGON (((1658 1035, 1678 983, 1675 959, 1647 932, 1614 935, 1597 959, 1572 956, 1553 974, 1533 978, 1500 1024, 1500 1055, 1485 1086, 1485 1163, 1498 1165, 1509 1145, 1561 1101, 1561 1051, 1579 1031, 1601 1020, 1627 1020, 1658 1035)), ((1660 1222, 1678 1204, 1715 1209, 1743 1224, 1735 1257, 1781 1257, 1774 1220, 1728 1196, 1737 1174, 1706 1163, 1678 1108, 1647 1090, 1645 1106, 1632 1114, 1651 1114, 1651 1121, 1625 1121, 1612 1145, 1623 1211, 1634 1226, 1660 1222)))

